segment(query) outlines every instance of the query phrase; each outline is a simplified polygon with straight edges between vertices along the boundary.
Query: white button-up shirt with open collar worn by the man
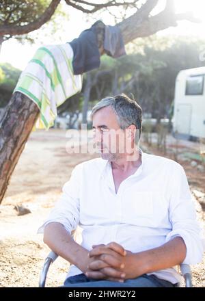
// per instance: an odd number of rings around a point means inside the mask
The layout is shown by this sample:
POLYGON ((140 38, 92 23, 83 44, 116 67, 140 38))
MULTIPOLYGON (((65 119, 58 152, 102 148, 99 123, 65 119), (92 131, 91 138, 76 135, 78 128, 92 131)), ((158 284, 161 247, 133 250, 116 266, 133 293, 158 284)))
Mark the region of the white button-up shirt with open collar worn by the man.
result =
MULTIPOLYGON (((199 263, 204 246, 182 166, 143 152, 141 161, 117 194, 109 161, 97 158, 77 165, 44 226, 59 222, 69 233, 80 226, 81 246, 87 250, 115 241, 126 250, 141 252, 180 236, 187 246, 184 263, 199 263)), ((68 276, 81 273, 71 265, 68 276)), ((180 281, 175 267, 151 274, 180 281)))

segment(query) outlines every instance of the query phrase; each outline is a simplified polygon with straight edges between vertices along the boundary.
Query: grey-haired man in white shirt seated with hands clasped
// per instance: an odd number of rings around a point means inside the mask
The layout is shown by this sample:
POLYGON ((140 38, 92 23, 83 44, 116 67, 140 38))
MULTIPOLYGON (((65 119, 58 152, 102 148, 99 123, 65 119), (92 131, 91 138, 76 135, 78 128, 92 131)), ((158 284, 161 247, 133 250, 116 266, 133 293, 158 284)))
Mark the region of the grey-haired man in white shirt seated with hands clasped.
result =
POLYGON ((102 99, 92 120, 102 158, 74 168, 44 224, 44 242, 72 263, 64 285, 173 287, 175 266, 203 254, 184 170, 137 147, 141 107, 126 95, 102 99))

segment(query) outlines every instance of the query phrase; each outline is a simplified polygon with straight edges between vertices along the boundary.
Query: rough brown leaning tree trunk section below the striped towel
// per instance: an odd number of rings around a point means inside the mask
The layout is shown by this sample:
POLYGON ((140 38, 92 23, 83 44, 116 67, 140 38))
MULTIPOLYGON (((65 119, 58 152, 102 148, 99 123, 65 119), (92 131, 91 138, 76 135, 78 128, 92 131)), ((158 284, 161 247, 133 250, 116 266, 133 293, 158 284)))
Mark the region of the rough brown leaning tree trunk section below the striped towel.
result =
POLYGON ((38 114, 33 101, 15 92, 0 120, 0 203, 38 114))

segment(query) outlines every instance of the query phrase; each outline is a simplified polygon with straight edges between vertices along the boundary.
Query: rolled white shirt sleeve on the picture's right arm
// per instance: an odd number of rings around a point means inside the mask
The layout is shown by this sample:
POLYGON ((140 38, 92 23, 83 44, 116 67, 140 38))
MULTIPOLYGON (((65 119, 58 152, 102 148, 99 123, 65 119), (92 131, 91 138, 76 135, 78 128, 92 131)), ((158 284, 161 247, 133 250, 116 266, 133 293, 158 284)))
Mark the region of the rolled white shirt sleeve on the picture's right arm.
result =
POLYGON ((187 247, 183 263, 200 263, 204 252, 204 238, 202 229, 196 220, 195 206, 191 198, 187 176, 179 164, 173 170, 171 185, 169 219, 172 222, 172 231, 167 235, 166 241, 176 236, 182 237, 187 247))

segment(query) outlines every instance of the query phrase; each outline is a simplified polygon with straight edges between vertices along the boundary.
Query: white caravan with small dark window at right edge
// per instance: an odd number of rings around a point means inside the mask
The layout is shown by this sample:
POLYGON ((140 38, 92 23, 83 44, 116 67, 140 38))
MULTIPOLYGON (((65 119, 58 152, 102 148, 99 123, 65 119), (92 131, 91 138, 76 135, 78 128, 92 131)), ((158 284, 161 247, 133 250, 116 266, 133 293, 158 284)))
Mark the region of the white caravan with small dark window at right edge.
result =
POLYGON ((205 67, 181 70, 176 77, 174 135, 197 140, 205 138, 205 67))

